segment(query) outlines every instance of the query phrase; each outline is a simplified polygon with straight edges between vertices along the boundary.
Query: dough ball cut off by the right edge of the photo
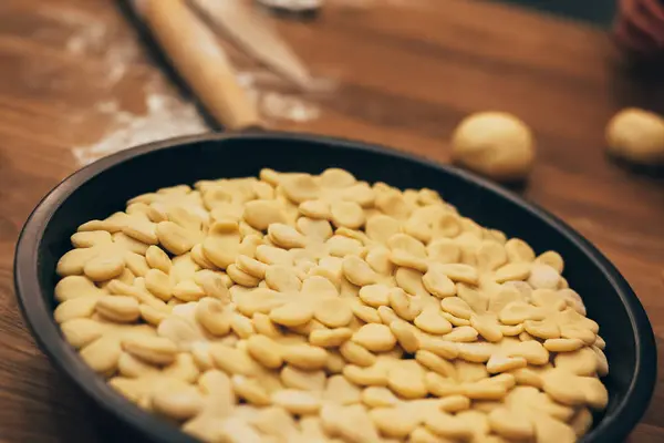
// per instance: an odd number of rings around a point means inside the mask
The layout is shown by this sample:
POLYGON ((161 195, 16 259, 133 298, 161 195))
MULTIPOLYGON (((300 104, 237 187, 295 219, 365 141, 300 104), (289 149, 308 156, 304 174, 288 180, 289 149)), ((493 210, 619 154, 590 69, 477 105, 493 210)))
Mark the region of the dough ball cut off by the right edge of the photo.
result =
POLYGON ((639 164, 664 164, 664 119, 629 107, 606 125, 609 152, 639 164))

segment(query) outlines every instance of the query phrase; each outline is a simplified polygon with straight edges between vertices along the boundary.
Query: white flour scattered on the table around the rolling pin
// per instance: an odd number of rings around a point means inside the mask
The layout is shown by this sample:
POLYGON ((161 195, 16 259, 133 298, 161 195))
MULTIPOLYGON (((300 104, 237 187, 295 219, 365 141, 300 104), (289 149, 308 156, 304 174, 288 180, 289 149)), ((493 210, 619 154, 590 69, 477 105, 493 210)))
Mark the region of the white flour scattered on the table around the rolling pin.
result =
MULTIPOLYGON (((136 91, 139 101, 145 102, 145 112, 123 107, 117 86, 127 75, 135 74, 136 66, 145 59, 141 42, 133 32, 127 32, 121 17, 111 22, 82 10, 49 6, 40 9, 39 13, 53 23, 53 31, 66 34, 63 49, 70 55, 94 56, 101 59, 104 65, 102 75, 90 80, 104 100, 94 103, 84 114, 71 116, 71 121, 79 125, 100 119, 108 122, 97 141, 72 148, 79 165, 139 144, 210 131, 196 106, 183 100, 156 69, 147 68, 148 72, 143 72, 146 80, 142 82, 142 90, 136 91)), ((283 82, 279 84, 273 78, 263 71, 245 72, 238 79, 268 122, 302 123, 320 116, 315 104, 304 100, 300 93, 283 92, 283 82), (271 80, 262 81, 266 76, 271 80)), ((52 86, 58 87, 54 83, 52 86)))

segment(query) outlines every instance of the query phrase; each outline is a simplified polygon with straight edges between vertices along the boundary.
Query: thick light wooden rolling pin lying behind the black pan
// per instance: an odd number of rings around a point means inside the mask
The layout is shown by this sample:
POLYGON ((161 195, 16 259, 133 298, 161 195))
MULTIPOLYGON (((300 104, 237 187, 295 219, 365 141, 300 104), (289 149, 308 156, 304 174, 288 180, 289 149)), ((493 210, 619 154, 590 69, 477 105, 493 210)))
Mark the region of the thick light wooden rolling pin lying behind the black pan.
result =
POLYGON ((228 130, 262 126, 226 52, 185 0, 143 0, 136 6, 174 69, 219 123, 228 130))

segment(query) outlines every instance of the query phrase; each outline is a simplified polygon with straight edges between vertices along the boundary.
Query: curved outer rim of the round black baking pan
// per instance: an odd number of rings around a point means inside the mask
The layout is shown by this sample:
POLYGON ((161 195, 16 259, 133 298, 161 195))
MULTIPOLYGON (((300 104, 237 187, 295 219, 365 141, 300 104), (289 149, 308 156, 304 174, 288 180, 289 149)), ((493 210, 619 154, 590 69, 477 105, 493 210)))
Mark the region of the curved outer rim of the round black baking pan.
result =
POLYGON ((179 431, 176 426, 158 419, 152 413, 136 408, 123 396, 118 395, 102 378, 90 370, 79 358, 73 348, 64 341, 60 333, 60 328, 53 319, 52 310, 44 302, 44 297, 42 295, 43 288, 41 288, 38 277, 38 250, 43 238, 43 227, 50 223, 58 208, 75 192, 75 189, 104 171, 129 158, 186 144, 224 142, 240 138, 252 138, 257 141, 279 138, 312 144, 325 144, 418 163, 423 166, 436 169, 437 173, 452 174, 465 182, 471 182, 481 187, 483 192, 498 194, 499 197, 508 199, 521 210, 529 213, 542 223, 558 230, 561 235, 567 237, 574 247, 585 255, 592 261, 593 266, 601 270, 604 278, 606 278, 614 288, 630 319, 632 326, 631 332, 634 336, 636 348, 634 374, 632 375, 625 396, 612 413, 606 415, 591 433, 584 436, 582 441, 622 441, 643 416, 653 395, 656 379, 656 344, 654 332, 645 309, 641 305, 637 296, 618 269, 602 255, 602 253, 599 251, 599 249, 590 244, 589 240, 537 204, 526 202, 510 190, 490 183, 473 173, 376 144, 367 144, 339 137, 277 131, 200 134, 169 138, 124 150, 92 163, 64 178, 42 198, 28 217, 17 241, 13 266, 14 292, 23 318, 27 320, 32 336, 38 341, 41 350, 46 353, 55 367, 72 379, 73 382, 103 410, 129 424, 139 433, 160 442, 184 443, 197 441, 179 431))

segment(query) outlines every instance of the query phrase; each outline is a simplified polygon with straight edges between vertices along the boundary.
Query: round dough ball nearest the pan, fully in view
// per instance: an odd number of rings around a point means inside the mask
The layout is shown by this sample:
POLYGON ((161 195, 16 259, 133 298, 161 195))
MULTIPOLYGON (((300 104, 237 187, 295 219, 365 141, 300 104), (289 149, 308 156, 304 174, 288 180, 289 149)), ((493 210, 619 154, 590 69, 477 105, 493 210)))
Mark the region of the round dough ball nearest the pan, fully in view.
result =
POLYGON ((452 137, 454 163, 502 182, 523 179, 535 161, 535 140, 526 123, 505 112, 464 119, 452 137))

